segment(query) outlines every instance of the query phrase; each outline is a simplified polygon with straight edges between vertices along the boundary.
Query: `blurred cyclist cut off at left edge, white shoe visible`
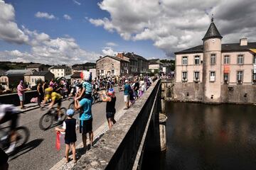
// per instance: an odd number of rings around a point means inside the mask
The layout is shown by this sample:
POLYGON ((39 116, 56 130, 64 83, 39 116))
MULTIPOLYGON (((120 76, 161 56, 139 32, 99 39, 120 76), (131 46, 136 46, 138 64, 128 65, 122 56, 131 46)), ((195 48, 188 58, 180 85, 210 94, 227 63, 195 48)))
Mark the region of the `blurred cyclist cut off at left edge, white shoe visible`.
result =
POLYGON ((18 114, 15 106, 11 104, 0 104, 0 125, 9 120, 11 122, 11 145, 9 146, 9 149, 6 150, 6 154, 13 152, 16 147, 16 126, 18 114))

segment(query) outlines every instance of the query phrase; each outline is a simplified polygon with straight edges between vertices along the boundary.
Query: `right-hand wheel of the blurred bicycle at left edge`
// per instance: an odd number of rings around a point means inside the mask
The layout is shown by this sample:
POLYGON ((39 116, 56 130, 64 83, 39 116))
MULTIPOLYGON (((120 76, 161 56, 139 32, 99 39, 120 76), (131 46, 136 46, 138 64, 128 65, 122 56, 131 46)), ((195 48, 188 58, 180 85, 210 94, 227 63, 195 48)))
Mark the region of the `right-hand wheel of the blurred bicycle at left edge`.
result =
POLYGON ((29 130, 28 128, 21 126, 16 128, 17 138, 16 138, 16 148, 22 147, 28 142, 29 130))

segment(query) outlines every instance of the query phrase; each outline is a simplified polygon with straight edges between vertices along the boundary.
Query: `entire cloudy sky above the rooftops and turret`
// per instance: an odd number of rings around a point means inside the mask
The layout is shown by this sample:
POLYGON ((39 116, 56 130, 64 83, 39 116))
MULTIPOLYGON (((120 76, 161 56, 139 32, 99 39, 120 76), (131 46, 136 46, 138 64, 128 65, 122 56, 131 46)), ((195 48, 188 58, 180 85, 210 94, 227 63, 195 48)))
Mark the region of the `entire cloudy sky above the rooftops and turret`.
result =
POLYGON ((0 0, 0 61, 82 64, 117 52, 173 59, 201 45, 256 41, 255 0, 0 0))

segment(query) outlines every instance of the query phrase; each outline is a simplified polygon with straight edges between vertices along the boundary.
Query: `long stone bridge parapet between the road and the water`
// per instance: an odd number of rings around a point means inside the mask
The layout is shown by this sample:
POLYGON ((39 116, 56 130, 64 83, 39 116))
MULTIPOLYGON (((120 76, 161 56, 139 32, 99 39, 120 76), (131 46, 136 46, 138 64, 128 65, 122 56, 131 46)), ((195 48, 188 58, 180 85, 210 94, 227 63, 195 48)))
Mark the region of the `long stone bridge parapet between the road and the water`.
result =
POLYGON ((73 169, 137 169, 149 124, 159 127, 160 84, 156 80, 73 169))

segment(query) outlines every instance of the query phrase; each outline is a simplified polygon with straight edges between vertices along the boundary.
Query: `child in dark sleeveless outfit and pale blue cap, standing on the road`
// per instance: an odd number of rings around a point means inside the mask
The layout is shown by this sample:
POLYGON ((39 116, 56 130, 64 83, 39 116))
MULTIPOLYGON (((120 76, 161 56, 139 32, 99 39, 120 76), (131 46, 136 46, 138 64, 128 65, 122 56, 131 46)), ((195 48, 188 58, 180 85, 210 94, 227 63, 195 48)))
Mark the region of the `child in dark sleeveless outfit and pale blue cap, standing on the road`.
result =
POLYGON ((65 158, 66 163, 68 163, 68 152, 70 147, 72 148, 73 161, 77 162, 75 159, 75 142, 77 141, 75 129, 78 130, 78 123, 76 119, 72 118, 74 115, 73 109, 68 109, 67 111, 68 117, 63 122, 63 128, 55 128, 56 131, 65 132, 65 158))

